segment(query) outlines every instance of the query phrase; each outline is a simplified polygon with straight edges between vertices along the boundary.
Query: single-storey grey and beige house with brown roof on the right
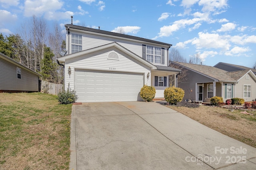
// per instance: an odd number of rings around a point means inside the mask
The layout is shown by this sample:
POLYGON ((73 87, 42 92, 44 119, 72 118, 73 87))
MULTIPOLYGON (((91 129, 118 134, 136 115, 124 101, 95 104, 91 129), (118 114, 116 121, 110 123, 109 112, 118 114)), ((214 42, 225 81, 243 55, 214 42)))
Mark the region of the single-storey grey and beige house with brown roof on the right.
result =
POLYGON ((256 76, 252 70, 228 72, 216 67, 171 62, 186 70, 186 82, 178 83, 185 91, 183 100, 210 102, 220 96, 224 102, 231 98, 243 98, 246 102, 256 98, 256 76))

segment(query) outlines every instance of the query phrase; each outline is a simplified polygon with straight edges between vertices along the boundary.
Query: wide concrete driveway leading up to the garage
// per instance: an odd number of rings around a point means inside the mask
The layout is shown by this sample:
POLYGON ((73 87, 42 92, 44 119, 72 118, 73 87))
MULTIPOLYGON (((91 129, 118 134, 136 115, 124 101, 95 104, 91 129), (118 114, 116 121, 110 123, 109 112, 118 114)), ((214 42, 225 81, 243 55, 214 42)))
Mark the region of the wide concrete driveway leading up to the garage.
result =
POLYGON ((70 149, 71 170, 256 169, 256 148, 155 102, 73 105, 70 149))

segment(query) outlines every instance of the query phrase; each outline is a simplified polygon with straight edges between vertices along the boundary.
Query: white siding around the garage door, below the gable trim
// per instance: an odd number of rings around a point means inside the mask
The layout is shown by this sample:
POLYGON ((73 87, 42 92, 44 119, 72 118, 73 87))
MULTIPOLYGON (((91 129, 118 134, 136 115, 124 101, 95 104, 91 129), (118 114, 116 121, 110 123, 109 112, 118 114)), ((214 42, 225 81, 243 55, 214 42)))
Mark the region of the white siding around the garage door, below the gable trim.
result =
POLYGON ((114 71, 114 72, 130 72, 130 73, 142 73, 144 75, 144 84, 150 86, 150 78, 147 78, 150 67, 140 63, 140 61, 130 57, 123 51, 116 47, 110 47, 68 59, 65 64, 65 72, 68 71, 68 67, 71 68, 71 75, 65 74, 65 89, 70 83, 70 88, 74 89, 74 71, 75 69, 86 70, 102 70, 102 71, 114 71), (110 52, 115 52, 119 56, 119 60, 109 60, 108 55, 110 52))

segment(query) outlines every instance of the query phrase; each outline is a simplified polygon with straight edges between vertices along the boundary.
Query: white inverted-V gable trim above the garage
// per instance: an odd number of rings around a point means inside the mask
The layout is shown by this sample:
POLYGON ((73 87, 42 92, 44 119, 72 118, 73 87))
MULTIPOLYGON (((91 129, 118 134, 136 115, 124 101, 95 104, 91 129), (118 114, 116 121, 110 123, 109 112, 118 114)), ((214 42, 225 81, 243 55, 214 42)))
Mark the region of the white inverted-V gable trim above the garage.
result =
POLYGON ((116 42, 101 45, 101 46, 94 47, 94 48, 91 48, 91 49, 87 49, 87 50, 84 50, 84 51, 80 51, 80 52, 77 52, 77 53, 65 55, 63 57, 58 58, 58 61, 65 62, 68 59, 72 59, 74 57, 78 57, 78 56, 81 56, 81 55, 86 55, 86 54, 93 53, 95 51, 99 51, 99 50, 102 50, 102 49, 107 49, 107 48, 110 48, 110 47, 116 47, 117 49, 123 51, 124 53, 128 54, 129 56, 133 57, 134 59, 136 59, 136 60, 140 61, 141 63, 145 64, 146 66, 149 66, 150 68, 152 68, 152 70, 157 69, 157 67, 155 65, 153 65, 153 64, 149 63, 148 61, 142 59, 142 57, 139 57, 138 55, 132 53, 132 51, 124 48, 122 45, 120 45, 116 42))

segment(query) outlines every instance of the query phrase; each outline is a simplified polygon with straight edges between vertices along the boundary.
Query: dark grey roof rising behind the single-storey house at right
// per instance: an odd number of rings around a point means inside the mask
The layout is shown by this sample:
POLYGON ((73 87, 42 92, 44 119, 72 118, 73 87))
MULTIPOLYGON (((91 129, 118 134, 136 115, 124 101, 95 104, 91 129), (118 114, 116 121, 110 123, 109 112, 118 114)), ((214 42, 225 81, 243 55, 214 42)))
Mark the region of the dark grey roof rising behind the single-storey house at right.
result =
POLYGON ((225 71, 239 71, 239 70, 252 70, 254 74, 256 74, 256 69, 254 68, 249 68, 245 66, 240 66, 240 65, 235 65, 235 64, 229 64, 229 63, 218 63, 214 67, 220 68, 225 71))

